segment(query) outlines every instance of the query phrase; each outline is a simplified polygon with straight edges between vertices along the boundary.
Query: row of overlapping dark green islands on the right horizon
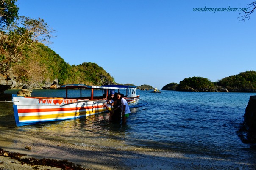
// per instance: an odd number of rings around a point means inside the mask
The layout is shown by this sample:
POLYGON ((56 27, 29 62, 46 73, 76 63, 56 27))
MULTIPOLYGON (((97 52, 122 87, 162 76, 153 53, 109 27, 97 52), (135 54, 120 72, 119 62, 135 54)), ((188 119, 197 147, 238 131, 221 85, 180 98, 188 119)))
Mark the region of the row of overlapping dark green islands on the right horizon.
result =
POLYGON ((234 76, 211 82, 203 77, 184 78, 177 83, 169 83, 162 90, 185 92, 256 92, 256 71, 245 71, 234 76))

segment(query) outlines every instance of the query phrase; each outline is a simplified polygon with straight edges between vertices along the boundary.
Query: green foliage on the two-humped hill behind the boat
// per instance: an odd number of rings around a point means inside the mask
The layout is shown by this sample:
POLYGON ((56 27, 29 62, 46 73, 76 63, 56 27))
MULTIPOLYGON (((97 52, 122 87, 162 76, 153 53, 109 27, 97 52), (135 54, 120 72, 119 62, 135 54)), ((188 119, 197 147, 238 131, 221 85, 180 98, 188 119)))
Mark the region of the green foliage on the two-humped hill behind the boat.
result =
POLYGON ((52 49, 39 43, 36 48, 27 46, 23 59, 13 64, 17 81, 35 84, 32 88, 44 87, 58 79, 58 84, 87 84, 101 86, 112 84, 113 78, 95 63, 69 65, 52 49), (41 84, 38 86, 38 84, 41 84))

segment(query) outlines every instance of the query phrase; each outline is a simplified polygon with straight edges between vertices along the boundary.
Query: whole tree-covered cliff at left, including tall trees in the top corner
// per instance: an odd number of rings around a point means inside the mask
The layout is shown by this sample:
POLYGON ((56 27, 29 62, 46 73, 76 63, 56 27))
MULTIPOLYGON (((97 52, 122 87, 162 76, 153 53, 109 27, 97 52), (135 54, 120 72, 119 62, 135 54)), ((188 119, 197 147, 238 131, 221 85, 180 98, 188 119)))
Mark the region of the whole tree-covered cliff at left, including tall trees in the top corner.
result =
POLYGON ((17 0, 0 1, 0 76, 31 89, 58 84, 112 84, 114 78, 95 63, 69 65, 45 46, 55 32, 43 19, 18 16, 17 0))

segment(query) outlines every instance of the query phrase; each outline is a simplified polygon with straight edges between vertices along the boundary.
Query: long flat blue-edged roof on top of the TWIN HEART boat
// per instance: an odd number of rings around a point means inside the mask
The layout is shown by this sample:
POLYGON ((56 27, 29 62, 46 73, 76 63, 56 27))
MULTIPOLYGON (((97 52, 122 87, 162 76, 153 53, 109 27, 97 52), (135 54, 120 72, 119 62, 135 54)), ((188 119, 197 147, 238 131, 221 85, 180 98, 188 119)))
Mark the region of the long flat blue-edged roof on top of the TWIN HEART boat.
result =
POLYGON ((67 84, 62 85, 62 88, 83 88, 83 89, 128 89, 136 88, 137 86, 126 86, 126 85, 103 85, 103 86, 89 86, 85 84, 67 84))

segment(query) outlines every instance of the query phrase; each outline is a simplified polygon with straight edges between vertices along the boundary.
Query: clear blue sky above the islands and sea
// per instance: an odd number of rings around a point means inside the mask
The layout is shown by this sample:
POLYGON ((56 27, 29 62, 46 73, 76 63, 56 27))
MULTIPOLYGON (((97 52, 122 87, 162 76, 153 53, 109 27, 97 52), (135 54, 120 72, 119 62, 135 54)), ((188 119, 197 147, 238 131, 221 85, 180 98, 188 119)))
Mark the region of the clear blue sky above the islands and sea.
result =
POLYGON ((161 89, 184 78, 212 82, 256 70, 252 0, 18 0, 19 16, 56 30, 47 44, 70 65, 94 62, 117 83, 161 89), (197 12, 194 8, 237 8, 197 12), (248 8, 249 10, 249 8, 248 8))

